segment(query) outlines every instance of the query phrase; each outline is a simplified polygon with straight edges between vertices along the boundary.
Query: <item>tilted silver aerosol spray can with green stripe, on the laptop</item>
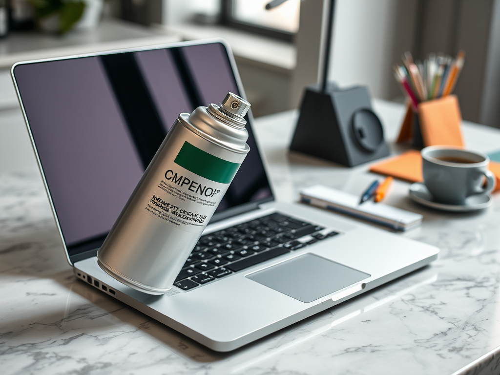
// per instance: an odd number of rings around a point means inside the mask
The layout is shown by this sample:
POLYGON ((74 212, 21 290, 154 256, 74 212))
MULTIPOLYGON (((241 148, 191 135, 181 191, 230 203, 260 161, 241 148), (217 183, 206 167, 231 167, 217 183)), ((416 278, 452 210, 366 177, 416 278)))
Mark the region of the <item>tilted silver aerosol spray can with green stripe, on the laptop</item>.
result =
POLYGON ((172 286, 250 150, 249 107, 229 92, 179 114, 97 251, 104 271, 149 294, 172 286))

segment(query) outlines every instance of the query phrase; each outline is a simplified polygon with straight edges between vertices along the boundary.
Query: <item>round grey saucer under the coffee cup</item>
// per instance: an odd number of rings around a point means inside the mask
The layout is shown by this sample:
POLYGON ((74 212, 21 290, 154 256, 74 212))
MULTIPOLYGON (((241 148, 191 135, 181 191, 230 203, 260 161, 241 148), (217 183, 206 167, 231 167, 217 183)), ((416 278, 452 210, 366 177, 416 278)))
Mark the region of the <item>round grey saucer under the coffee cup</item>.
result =
POLYGON ((421 182, 412 183, 409 187, 409 197, 415 202, 444 211, 466 212, 489 207, 493 203, 489 195, 471 195, 465 199, 465 204, 438 203, 433 200, 427 187, 421 182))

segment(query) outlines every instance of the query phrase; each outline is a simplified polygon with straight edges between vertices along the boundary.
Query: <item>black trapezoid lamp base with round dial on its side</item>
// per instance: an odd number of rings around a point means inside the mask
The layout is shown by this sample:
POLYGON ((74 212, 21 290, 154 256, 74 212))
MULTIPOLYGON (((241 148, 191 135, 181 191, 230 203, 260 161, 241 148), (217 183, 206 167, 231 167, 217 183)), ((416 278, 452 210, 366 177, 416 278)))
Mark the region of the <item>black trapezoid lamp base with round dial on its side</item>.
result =
POLYGON ((366 86, 307 86, 290 149, 354 166, 389 154, 366 86))

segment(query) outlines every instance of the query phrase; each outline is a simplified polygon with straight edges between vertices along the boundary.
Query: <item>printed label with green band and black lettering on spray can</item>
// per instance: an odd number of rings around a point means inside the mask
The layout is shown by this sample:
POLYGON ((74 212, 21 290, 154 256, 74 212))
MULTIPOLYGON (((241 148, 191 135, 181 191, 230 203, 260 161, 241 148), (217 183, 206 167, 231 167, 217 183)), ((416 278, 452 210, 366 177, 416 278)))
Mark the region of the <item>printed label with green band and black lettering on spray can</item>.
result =
POLYGON ((155 176, 145 213, 178 229, 203 230, 239 168, 185 141, 173 162, 155 176))

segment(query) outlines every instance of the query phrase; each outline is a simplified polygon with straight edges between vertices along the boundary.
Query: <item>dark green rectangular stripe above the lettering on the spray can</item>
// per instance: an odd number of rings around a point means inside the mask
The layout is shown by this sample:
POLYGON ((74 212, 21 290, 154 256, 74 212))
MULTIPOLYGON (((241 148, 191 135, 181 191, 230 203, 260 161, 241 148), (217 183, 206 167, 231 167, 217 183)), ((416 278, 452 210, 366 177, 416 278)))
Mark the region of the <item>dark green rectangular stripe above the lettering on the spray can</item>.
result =
POLYGON ((173 162, 201 177, 220 183, 231 182, 240 165, 213 156, 187 141, 173 162))

